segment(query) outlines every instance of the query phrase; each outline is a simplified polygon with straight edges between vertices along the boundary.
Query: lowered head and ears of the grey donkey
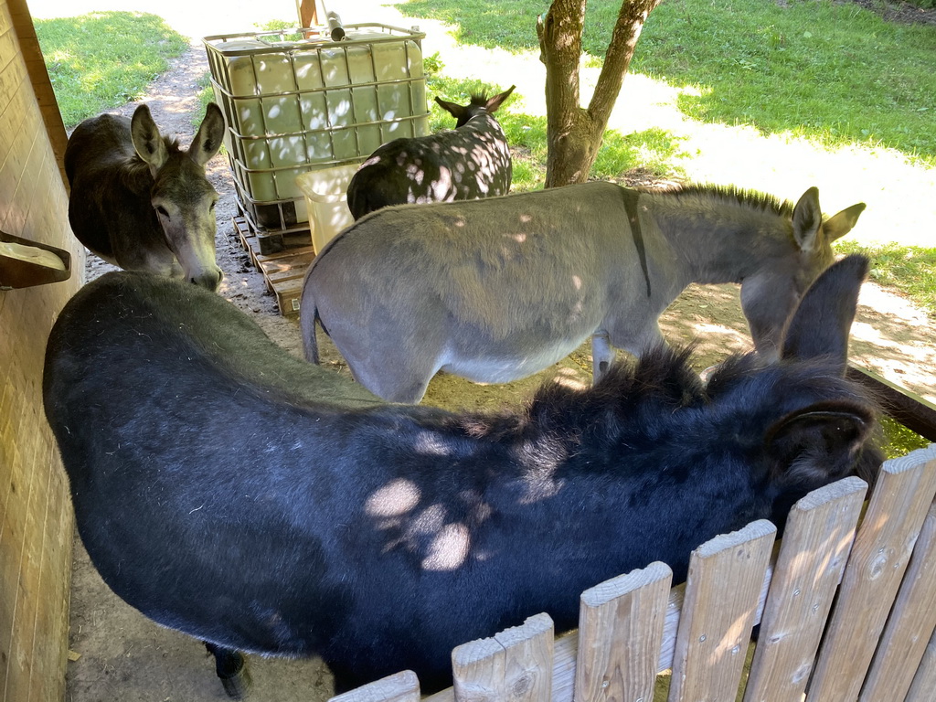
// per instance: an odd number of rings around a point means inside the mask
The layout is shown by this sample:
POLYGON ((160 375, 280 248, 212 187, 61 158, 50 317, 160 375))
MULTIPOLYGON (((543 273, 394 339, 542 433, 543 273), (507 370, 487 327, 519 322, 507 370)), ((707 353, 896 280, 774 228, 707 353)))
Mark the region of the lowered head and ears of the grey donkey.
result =
POLYGON ((768 359, 780 352, 782 330, 798 300, 820 272, 832 262, 832 241, 855 227, 865 204, 842 210, 823 220, 819 190, 810 188, 793 208, 789 226, 792 246, 741 284, 741 308, 751 326, 754 346, 768 359))

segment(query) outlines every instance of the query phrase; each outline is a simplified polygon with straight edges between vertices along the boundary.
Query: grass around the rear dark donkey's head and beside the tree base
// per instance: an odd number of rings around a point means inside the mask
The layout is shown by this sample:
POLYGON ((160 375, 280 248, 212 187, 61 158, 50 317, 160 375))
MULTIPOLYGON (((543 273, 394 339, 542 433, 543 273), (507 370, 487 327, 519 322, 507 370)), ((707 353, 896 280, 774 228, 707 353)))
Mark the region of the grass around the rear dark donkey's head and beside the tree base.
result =
MULTIPOLYGON (((444 66, 438 66, 437 71, 444 71, 444 66)), ((431 75, 428 83, 431 132, 455 126, 451 115, 435 104, 432 99, 435 95, 463 105, 473 94, 494 95, 507 87, 480 80, 453 80, 442 75, 431 75)), ((547 161, 546 118, 515 110, 508 100, 505 106, 497 111, 497 119, 504 129, 507 143, 513 150, 514 172, 511 189, 514 192, 522 192, 543 187, 547 161)), ((598 150, 590 176, 600 180, 616 180, 634 168, 640 168, 658 178, 681 175, 679 161, 688 156, 680 148, 681 140, 658 128, 628 135, 609 129, 598 150)))

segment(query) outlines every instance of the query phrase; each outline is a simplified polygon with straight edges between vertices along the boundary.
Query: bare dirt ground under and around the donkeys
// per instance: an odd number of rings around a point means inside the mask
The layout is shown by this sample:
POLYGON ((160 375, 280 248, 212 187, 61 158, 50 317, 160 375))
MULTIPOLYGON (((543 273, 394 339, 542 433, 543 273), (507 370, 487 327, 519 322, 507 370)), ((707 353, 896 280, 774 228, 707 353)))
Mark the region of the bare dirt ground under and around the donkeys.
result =
MULTIPOLYGON (((192 121, 199 109, 198 80, 206 71, 205 53, 195 45, 154 83, 145 98, 163 133, 177 135, 186 146, 194 134, 192 121)), ((134 103, 114 111, 130 115, 136 106, 134 103)), ((217 243, 225 280, 219 294, 256 319, 273 341, 300 356, 297 323, 278 314, 275 298, 267 292, 237 240, 231 222, 237 206, 224 157, 212 160, 209 177, 221 194, 217 243)), ((89 256, 87 279, 110 269, 89 256)), ((696 365, 700 370, 748 346, 734 285, 687 290, 667 311, 662 325, 670 340, 699 340, 696 365)), ((852 356, 857 363, 936 402, 932 373, 936 368, 936 344, 932 325, 924 314, 905 300, 866 285, 853 336, 852 356)), ((327 341, 322 345, 324 361, 346 373, 333 346, 327 341)), ((460 378, 439 376, 433 380, 426 402, 452 408, 517 406, 544 379, 563 376, 584 383, 590 375, 589 350, 583 346, 560 364, 506 386, 478 386, 460 378)), ((97 576, 80 542, 76 545, 73 582, 70 647, 80 657, 68 666, 69 702, 198 702, 226 698, 201 645, 188 636, 156 626, 124 605, 97 576)), ((318 702, 331 694, 329 673, 315 661, 255 657, 252 670, 253 702, 318 702)))

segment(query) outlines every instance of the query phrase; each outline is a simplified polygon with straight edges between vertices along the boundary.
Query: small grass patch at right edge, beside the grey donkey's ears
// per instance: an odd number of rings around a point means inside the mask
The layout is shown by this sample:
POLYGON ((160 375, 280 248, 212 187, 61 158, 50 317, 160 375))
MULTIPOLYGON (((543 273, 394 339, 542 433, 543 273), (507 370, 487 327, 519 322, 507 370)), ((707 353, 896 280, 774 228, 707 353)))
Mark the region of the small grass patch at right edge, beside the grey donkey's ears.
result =
POLYGON ((864 254, 871 259, 870 279, 898 292, 936 321, 936 249, 896 243, 861 246, 838 241, 841 254, 864 254))

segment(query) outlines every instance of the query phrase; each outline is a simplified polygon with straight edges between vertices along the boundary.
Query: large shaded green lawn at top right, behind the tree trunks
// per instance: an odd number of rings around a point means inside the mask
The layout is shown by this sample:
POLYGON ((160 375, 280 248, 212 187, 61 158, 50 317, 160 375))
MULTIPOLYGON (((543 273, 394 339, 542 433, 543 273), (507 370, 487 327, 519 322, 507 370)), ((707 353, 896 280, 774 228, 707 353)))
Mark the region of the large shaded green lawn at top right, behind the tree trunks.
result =
MULTIPOLYGON (((583 49, 600 63, 620 0, 592 0, 583 49)), ((402 10, 457 25, 463 43, 538 50, 534 0, 409 0, 402 10)), ((632 72, 678 87, 680 110, 826 146, 897 149, 936 165, 936 28, 884 22, 850 3, 667 0, 651 13, 632 72)), ((626 83, 624 87, 626 91, 626 83)))

